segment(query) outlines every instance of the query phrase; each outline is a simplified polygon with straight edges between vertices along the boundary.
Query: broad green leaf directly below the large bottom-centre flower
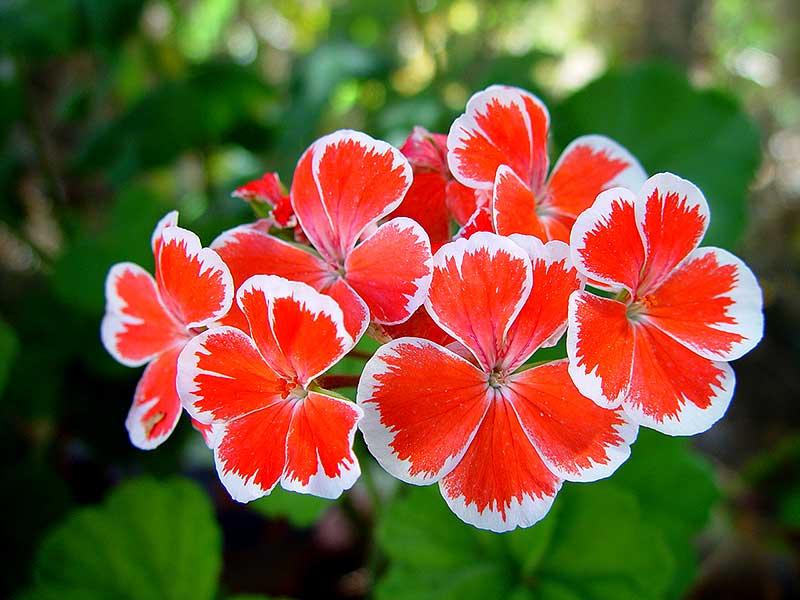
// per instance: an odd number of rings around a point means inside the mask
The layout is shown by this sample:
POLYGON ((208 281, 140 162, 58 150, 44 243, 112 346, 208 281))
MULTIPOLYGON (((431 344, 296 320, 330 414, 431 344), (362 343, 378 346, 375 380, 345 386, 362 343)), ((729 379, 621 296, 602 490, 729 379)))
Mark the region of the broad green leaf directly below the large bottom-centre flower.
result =
POLYGON ((459 521, 435 488, 409 489, 377 539, 390 561, 378 599, 656 599, 673 568, 636 498, 609 482, 565 486, 543 521, 504 535, 459 521))

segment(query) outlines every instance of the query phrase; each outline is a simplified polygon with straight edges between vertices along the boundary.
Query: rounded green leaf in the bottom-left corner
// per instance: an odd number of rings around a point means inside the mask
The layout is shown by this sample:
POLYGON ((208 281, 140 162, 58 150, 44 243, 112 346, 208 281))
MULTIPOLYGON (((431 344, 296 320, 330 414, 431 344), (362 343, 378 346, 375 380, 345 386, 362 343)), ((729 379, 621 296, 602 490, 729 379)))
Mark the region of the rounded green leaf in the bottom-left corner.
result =
POLYGON ((214 512, 196 485, 139 479, 47 536, 30 597, 211 600, 220 557, 214 512))

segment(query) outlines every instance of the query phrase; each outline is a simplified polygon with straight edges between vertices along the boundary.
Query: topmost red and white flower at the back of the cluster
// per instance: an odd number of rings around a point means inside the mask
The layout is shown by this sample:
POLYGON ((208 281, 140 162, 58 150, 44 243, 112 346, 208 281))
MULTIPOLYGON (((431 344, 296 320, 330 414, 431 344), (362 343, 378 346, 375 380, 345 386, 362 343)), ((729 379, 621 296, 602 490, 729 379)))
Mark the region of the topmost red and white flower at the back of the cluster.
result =
POLYGON ((586 135, 567 146, 548 179, 549 126, 547 108, 536 96, 493 85, 473 95, 450 128, 450 169, 464 185, 491 192, 491 205, 475 218, 490 216, 501 235, 567 242, 575 219, 600 192, 638 188, 646 178, 625 148, 586 135))

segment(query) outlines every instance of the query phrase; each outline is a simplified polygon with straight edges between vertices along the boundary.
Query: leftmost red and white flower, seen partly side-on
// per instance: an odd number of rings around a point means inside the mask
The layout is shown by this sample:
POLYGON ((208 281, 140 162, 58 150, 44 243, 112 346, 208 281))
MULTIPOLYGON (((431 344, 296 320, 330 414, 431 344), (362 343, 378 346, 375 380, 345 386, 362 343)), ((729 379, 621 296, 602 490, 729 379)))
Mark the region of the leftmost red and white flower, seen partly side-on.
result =
POLYGON ((106 278, 103 345, 126 366, 149 363, 125 421, 131 442, 147 450, 172 433, 181 413, 175 388, 178 355, 233 301, 225 263, 177 223, 178 213, 171 212, 153 232, 155 279, 129 262, 111 267, 106 278))

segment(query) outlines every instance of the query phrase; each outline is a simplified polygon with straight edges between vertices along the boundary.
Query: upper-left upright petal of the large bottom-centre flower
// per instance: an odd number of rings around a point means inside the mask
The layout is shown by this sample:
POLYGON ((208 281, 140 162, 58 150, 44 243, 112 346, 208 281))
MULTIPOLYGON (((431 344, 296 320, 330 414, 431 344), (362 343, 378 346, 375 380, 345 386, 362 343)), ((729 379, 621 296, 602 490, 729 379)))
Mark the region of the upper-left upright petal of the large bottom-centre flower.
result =
POLYGON ((479 232, 442 246, 433 257, 425 307, 439 327, 491 371, 530 290, 525 251, 507 238, 479 232))

